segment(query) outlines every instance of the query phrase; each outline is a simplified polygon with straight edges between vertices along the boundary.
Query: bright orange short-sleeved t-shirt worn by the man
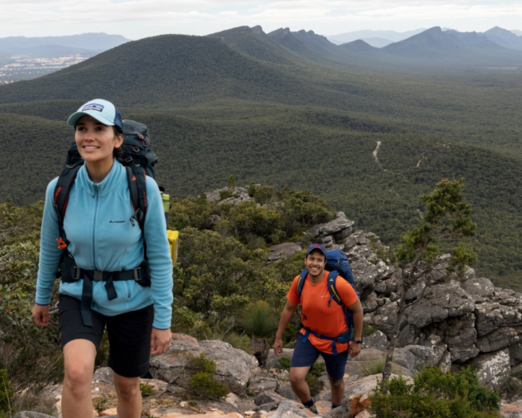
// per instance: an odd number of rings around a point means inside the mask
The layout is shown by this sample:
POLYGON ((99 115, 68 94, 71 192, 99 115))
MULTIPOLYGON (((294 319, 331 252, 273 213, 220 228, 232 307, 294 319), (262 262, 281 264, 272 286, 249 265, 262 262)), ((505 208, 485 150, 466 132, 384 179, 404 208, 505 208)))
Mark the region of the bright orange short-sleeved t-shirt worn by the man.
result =
MULTIPOLYGON (((345 314, 340 305, 335 302, 335 300, 331 300, 330 306, 328 306, 330 299, 330 292, 327 285, 328 274, 329 272, 325 270, 323 278, 317 284, 310 283, 310 279, 308 279, 307 276, 303 284, 301 299, 299 299, 299 295, 297 294, 297 281, 299 276, 296 276, 294 281, 292 281, 292 286, 290 286, 290 291, 288 291, 286 297, 292 304, 301 304, 301 319, 305 327, 326 336, 338 336, 342 334, 342 332, 346 332, 348 327, 346 325, 345 314)), ((342 277, 338 277, 335 281, 335 288, 345 306, 349 307, 357 301, 358 297, 354 288, 342 277)), ((305 334, 305 332, 306 330, 301 329, 301 334, 305 334)), ((324 353, 333 353, 331 346, 332 341, 320 339, 313 334, 310 334, 308 339, 310 339, 310 343, 312 343, 317 350, 324 353)), ((341 353, 348 349, 348 344, 336 342, 335 348, 337 348, 338 353, 341 353)))

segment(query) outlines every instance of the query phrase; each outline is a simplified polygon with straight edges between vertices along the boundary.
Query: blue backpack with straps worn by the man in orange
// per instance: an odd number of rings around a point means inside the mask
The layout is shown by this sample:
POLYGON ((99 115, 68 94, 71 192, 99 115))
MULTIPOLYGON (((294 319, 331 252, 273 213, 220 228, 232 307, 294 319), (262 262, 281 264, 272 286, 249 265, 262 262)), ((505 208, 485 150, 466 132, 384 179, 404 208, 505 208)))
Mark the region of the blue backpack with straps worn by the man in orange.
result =
MULTIPOLYGON (((360 293, 357 291, 354 281, 354 272, 351 270, 351 265, 348 261, 348 257, 342 251, 342 249, 331 249, 326 251, 326 265, 324 266, 324 270, 329 271, 328 274, 328 291, 330 292, 330 299, 328 300, 328 306, 330 306, 331 300, 335 300, 338 305, 342 308, 343 313, 345 314, 346 325, 348 327, 347 332, 343 332, 338 336, 326 336, 319 334, 318 332, 310 330, 308 327, 304 327, 306 332, 301 340, 303 343, 308 339, 309 334, 314 334, 318 338, 327 339, 332 341, 332 352, 333 355, 338 355, 337 348, 335 348, 335 341, 338 343, 348 343, 352 339, 352 334, 354 332, 354 314, 348 309, 345 304, 342 303, 342 300, 337 292, 337 288, 335 287, 335 282, 337 278, 340 276, 342 279, 346 280, 351 287, 357 293, 357 297, 360 296, 360 293)), ((303 286, 308 275, 308 270, 304 269, 301 274, 299 274, 299 279, 297 279, 297 294, 299 298, 301 297, 301 293, 303 292, 303 286)))

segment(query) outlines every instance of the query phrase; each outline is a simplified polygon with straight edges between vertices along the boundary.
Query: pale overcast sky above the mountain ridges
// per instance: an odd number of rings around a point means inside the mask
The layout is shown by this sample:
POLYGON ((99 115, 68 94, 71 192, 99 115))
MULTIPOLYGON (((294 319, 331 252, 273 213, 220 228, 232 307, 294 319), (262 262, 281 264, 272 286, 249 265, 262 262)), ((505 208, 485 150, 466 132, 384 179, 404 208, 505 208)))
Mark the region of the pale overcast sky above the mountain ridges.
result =
POLYGON ((0 0, 0 19, 0 38, 105 32, 136 40, 256 25, 324 36, 433 26, 482 32, 522 30, 522 0, 0 0))

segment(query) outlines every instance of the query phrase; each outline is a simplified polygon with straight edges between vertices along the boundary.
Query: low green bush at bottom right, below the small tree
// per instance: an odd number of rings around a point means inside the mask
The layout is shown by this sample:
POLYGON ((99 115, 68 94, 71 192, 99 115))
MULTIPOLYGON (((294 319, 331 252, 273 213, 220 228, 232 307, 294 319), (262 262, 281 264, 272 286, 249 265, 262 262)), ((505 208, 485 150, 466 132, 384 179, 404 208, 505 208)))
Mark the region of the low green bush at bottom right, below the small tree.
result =
POLYGON ((430 366, 419 371, 413 383, 402 376, 380 385, 370 396, 370 412, 379 418, 498 418, 498 394, 480 385, 473 367, 443 373, 430 366))

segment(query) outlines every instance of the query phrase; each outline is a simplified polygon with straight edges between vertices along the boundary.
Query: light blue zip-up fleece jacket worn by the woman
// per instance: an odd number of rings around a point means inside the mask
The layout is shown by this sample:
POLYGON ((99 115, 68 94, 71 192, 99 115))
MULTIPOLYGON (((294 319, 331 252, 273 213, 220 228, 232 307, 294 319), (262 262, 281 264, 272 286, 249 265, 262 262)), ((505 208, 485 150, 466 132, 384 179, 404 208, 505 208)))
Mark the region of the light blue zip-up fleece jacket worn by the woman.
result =
MULTIPOLYGON (((40 262, 36 282, 37 304, 49 304, 61 249, 58 249, 58 218, 54 210, 54 188, 57 178, 47 186, 40 238, 40 262)), ((107 272, 132 270, 143 261, 143 238, 151 271, 150 287, 134 280, 114 281, 118 297, 109 300, 103 281, 93 282, 92 309, 106 316, 136 311, 154 303, 153 327, 165 330, 171 327, 172 315, 172 261, 168 245, 165 215, 161 194, 153 178, 147 177, 148 207, 144 234, 130 200, 125 167, 116 160, 101 183, 93 183, 85 166, 78 171, 72 186, 63 229, 70 241, 68 250, 74 261, 85 270, 107 272), (144 237, 143 237, 144 235, 144 237)), ((84 281, 60 283, 60 293, 81 299, 84 281)))

